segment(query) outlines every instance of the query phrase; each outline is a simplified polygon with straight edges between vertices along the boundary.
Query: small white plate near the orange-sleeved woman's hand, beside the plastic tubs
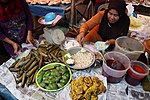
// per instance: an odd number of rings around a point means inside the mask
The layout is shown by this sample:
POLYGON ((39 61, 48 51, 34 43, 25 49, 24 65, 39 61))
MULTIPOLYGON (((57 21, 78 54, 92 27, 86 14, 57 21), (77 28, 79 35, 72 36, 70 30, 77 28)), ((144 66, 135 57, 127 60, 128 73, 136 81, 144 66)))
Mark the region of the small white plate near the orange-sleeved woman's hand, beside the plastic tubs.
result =
POLYGON ((95 43, 95 46, 98 50, 104 51, 105 49, 108 48, 109 44, 107 44, 106 42, 103 42, 103 41, 97 41, 95 43))

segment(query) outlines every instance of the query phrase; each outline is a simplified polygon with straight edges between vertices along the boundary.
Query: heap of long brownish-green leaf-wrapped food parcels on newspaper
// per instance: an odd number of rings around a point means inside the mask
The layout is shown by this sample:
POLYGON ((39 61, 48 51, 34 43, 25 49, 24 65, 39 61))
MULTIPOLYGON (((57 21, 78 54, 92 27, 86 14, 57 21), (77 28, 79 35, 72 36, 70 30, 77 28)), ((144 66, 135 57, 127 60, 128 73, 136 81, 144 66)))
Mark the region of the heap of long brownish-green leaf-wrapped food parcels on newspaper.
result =
POLYGON ((9 70, 16 72, 16 83, 21 83, 21 87, 29 86, 35 83, 36 73, 44 65, 53 62, 63 63, 62 50, 58 45, 52 45, 48 42, 39 45, 37 50, 32 50, 26 57, 18 59, 13 63, 9 70))

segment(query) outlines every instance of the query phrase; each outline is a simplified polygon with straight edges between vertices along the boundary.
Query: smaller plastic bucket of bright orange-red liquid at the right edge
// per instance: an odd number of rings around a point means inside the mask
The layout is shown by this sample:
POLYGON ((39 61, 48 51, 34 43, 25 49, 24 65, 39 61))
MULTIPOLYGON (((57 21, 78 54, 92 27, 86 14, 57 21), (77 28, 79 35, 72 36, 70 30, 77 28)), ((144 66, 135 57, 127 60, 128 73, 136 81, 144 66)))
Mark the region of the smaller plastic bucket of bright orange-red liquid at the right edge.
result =
POLYGON ((149 68, 141 61, 131 61, 131 67, 127 72, 125 80, 128 84, 136 86, 149 74, 149 68))

